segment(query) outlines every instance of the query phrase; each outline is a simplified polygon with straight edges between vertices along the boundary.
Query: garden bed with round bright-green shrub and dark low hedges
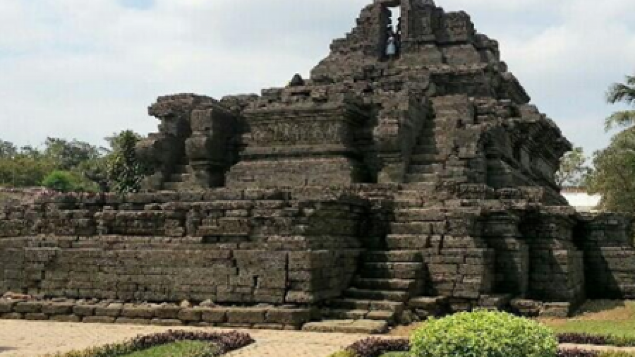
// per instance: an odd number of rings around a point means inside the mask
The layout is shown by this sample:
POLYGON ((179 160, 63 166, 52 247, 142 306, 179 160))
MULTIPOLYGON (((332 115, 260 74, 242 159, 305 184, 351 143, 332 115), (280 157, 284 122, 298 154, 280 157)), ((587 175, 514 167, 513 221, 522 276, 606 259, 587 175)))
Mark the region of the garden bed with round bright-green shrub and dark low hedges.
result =
POLYGON ((627 351, 565 349, 559 344, 627 347, 635 346, 635 337, 556 334, 538 321, 477 311, 432 319, 413 330, 410 339, 363 339, 330 357, 635 357, 627 351))

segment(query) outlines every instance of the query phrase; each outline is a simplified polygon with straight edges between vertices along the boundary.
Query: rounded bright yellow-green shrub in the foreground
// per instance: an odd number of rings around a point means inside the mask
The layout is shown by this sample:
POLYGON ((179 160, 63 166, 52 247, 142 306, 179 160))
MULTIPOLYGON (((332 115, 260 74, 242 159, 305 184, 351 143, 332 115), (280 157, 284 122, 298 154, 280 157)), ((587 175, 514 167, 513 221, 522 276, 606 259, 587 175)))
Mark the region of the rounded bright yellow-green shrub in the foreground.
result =
POLYGON ((553 357, 558 351, 548 327, 492 311, 431 320, 411 343, 415 357, 553 357))

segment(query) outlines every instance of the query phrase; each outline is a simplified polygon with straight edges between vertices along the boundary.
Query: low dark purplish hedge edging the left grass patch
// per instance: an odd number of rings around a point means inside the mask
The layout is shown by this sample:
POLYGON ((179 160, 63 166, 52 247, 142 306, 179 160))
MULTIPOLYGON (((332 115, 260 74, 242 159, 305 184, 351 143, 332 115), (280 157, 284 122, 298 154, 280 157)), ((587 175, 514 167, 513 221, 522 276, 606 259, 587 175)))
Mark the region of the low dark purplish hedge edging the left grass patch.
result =
POLYGON ((192 332, 184 330, 170 330, 152 335, 140 335, 134 339, 119 344, 109 344, 93 347, 83 351, 59 353, 54 357, 120 357, 126 354, 143 351, 150 347, 160 346, 179 341, 210 342, 218 347, 218 355, 235 351, 255 342, 250 335, 243 332, 192 332))

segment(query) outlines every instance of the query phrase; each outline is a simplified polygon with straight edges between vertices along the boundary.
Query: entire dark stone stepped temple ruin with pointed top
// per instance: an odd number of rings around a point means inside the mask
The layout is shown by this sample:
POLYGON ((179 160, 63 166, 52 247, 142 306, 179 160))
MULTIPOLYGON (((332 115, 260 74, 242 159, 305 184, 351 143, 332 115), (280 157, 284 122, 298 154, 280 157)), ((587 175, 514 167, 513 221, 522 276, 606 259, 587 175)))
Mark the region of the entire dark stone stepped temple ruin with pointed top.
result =
POLYGON ((529 102, 466 13, 375 1, 309 79, 159 98, 144 192, 0 211, 0 291, 32 297, 0 316, 381 332, 635 298, 629 220, 568 205, 529 102))

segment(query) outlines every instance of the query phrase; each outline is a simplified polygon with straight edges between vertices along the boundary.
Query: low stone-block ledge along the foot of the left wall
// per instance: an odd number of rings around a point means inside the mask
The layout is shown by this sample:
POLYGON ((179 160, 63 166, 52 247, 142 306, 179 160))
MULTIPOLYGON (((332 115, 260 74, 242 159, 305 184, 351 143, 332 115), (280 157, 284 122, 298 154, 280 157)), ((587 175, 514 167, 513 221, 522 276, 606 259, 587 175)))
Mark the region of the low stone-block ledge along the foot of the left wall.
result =
POLYGON ((311 321, 311 312, 310 308, 303 307, 180 307, 175 304, 0 299, 1 320, 300 330, 311 321))

